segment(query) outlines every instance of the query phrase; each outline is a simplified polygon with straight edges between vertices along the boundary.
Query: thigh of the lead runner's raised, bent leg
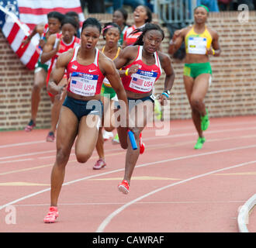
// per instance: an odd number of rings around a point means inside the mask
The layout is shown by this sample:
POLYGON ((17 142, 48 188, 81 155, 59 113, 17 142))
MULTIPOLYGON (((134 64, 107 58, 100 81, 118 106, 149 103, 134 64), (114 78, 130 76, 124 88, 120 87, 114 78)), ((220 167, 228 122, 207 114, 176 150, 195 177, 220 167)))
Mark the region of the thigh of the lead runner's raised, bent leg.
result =
POLYGON ((92 153, 98 140, 101 118, 99 115, 85 115, 80 119, 76 153, 92 153))

